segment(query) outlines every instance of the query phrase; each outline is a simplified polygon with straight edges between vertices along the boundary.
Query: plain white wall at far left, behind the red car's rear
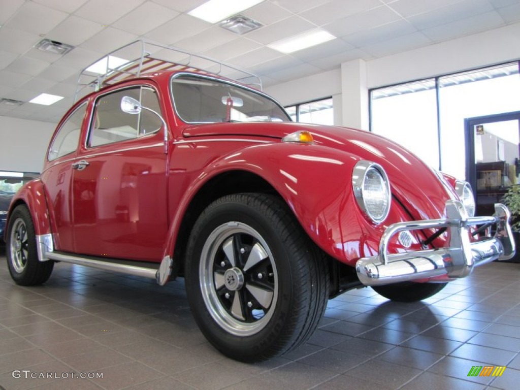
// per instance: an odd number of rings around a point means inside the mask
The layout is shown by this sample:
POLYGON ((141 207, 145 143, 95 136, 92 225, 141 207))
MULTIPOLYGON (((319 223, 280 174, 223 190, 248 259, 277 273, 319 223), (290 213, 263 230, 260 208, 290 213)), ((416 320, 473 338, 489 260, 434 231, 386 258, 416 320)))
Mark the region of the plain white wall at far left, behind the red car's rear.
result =
POLYGON ((56 125, 0 116, 0 171, 42 172, 56 125))

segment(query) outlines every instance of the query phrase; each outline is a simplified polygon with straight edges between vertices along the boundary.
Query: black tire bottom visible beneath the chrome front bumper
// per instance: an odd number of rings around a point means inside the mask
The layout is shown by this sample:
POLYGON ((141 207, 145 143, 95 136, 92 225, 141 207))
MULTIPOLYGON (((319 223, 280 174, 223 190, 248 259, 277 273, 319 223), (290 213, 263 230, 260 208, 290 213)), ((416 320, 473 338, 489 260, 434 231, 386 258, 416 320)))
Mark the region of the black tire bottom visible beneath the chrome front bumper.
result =
POLYGON ((395 284, 386 284, 380 286, 372 286, 372 288, 380 295, 397 302, 417 302, 425 300, 432 295, 437 294, 444 289, 448 283, 414 283, 400 282, 395 284))

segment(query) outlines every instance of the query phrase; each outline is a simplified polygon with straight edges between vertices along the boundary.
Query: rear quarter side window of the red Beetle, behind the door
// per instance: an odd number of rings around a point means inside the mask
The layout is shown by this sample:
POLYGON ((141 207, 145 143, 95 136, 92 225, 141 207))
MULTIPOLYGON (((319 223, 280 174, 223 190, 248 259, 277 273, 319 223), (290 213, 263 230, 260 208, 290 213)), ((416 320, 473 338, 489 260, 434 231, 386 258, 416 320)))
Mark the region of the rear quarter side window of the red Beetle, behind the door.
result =
POLYGON ((81 125, 85 117, 86 103, 77 108, 63 123, 50 146, 48 160, 52 161, 74 152, 80 140, 81 125))

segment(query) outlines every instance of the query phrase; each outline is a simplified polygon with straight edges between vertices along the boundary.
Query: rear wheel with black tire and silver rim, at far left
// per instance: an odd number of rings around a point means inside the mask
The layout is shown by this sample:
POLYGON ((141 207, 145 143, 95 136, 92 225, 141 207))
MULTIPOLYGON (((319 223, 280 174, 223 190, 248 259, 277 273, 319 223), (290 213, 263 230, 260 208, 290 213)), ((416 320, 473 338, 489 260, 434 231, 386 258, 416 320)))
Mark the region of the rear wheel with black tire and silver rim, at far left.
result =
POLYGON ((36 235, 27 206, 19 205, 12 211, 6 239, 7 265, 12 280, 20 285, 45 283, 53 271, 54 261, 38 261, 36 235))

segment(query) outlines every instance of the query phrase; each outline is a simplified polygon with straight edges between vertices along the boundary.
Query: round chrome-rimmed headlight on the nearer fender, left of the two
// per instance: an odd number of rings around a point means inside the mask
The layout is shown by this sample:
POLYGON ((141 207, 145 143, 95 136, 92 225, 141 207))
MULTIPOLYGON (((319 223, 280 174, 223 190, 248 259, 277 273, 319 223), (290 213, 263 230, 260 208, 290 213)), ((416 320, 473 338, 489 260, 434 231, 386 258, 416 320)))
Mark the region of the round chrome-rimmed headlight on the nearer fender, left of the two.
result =
POLYGON ((380 224, 390 211, 390 184, 379 164, 359 161, 352 173, 352 187, 359 207, 376 224, 380 224))

